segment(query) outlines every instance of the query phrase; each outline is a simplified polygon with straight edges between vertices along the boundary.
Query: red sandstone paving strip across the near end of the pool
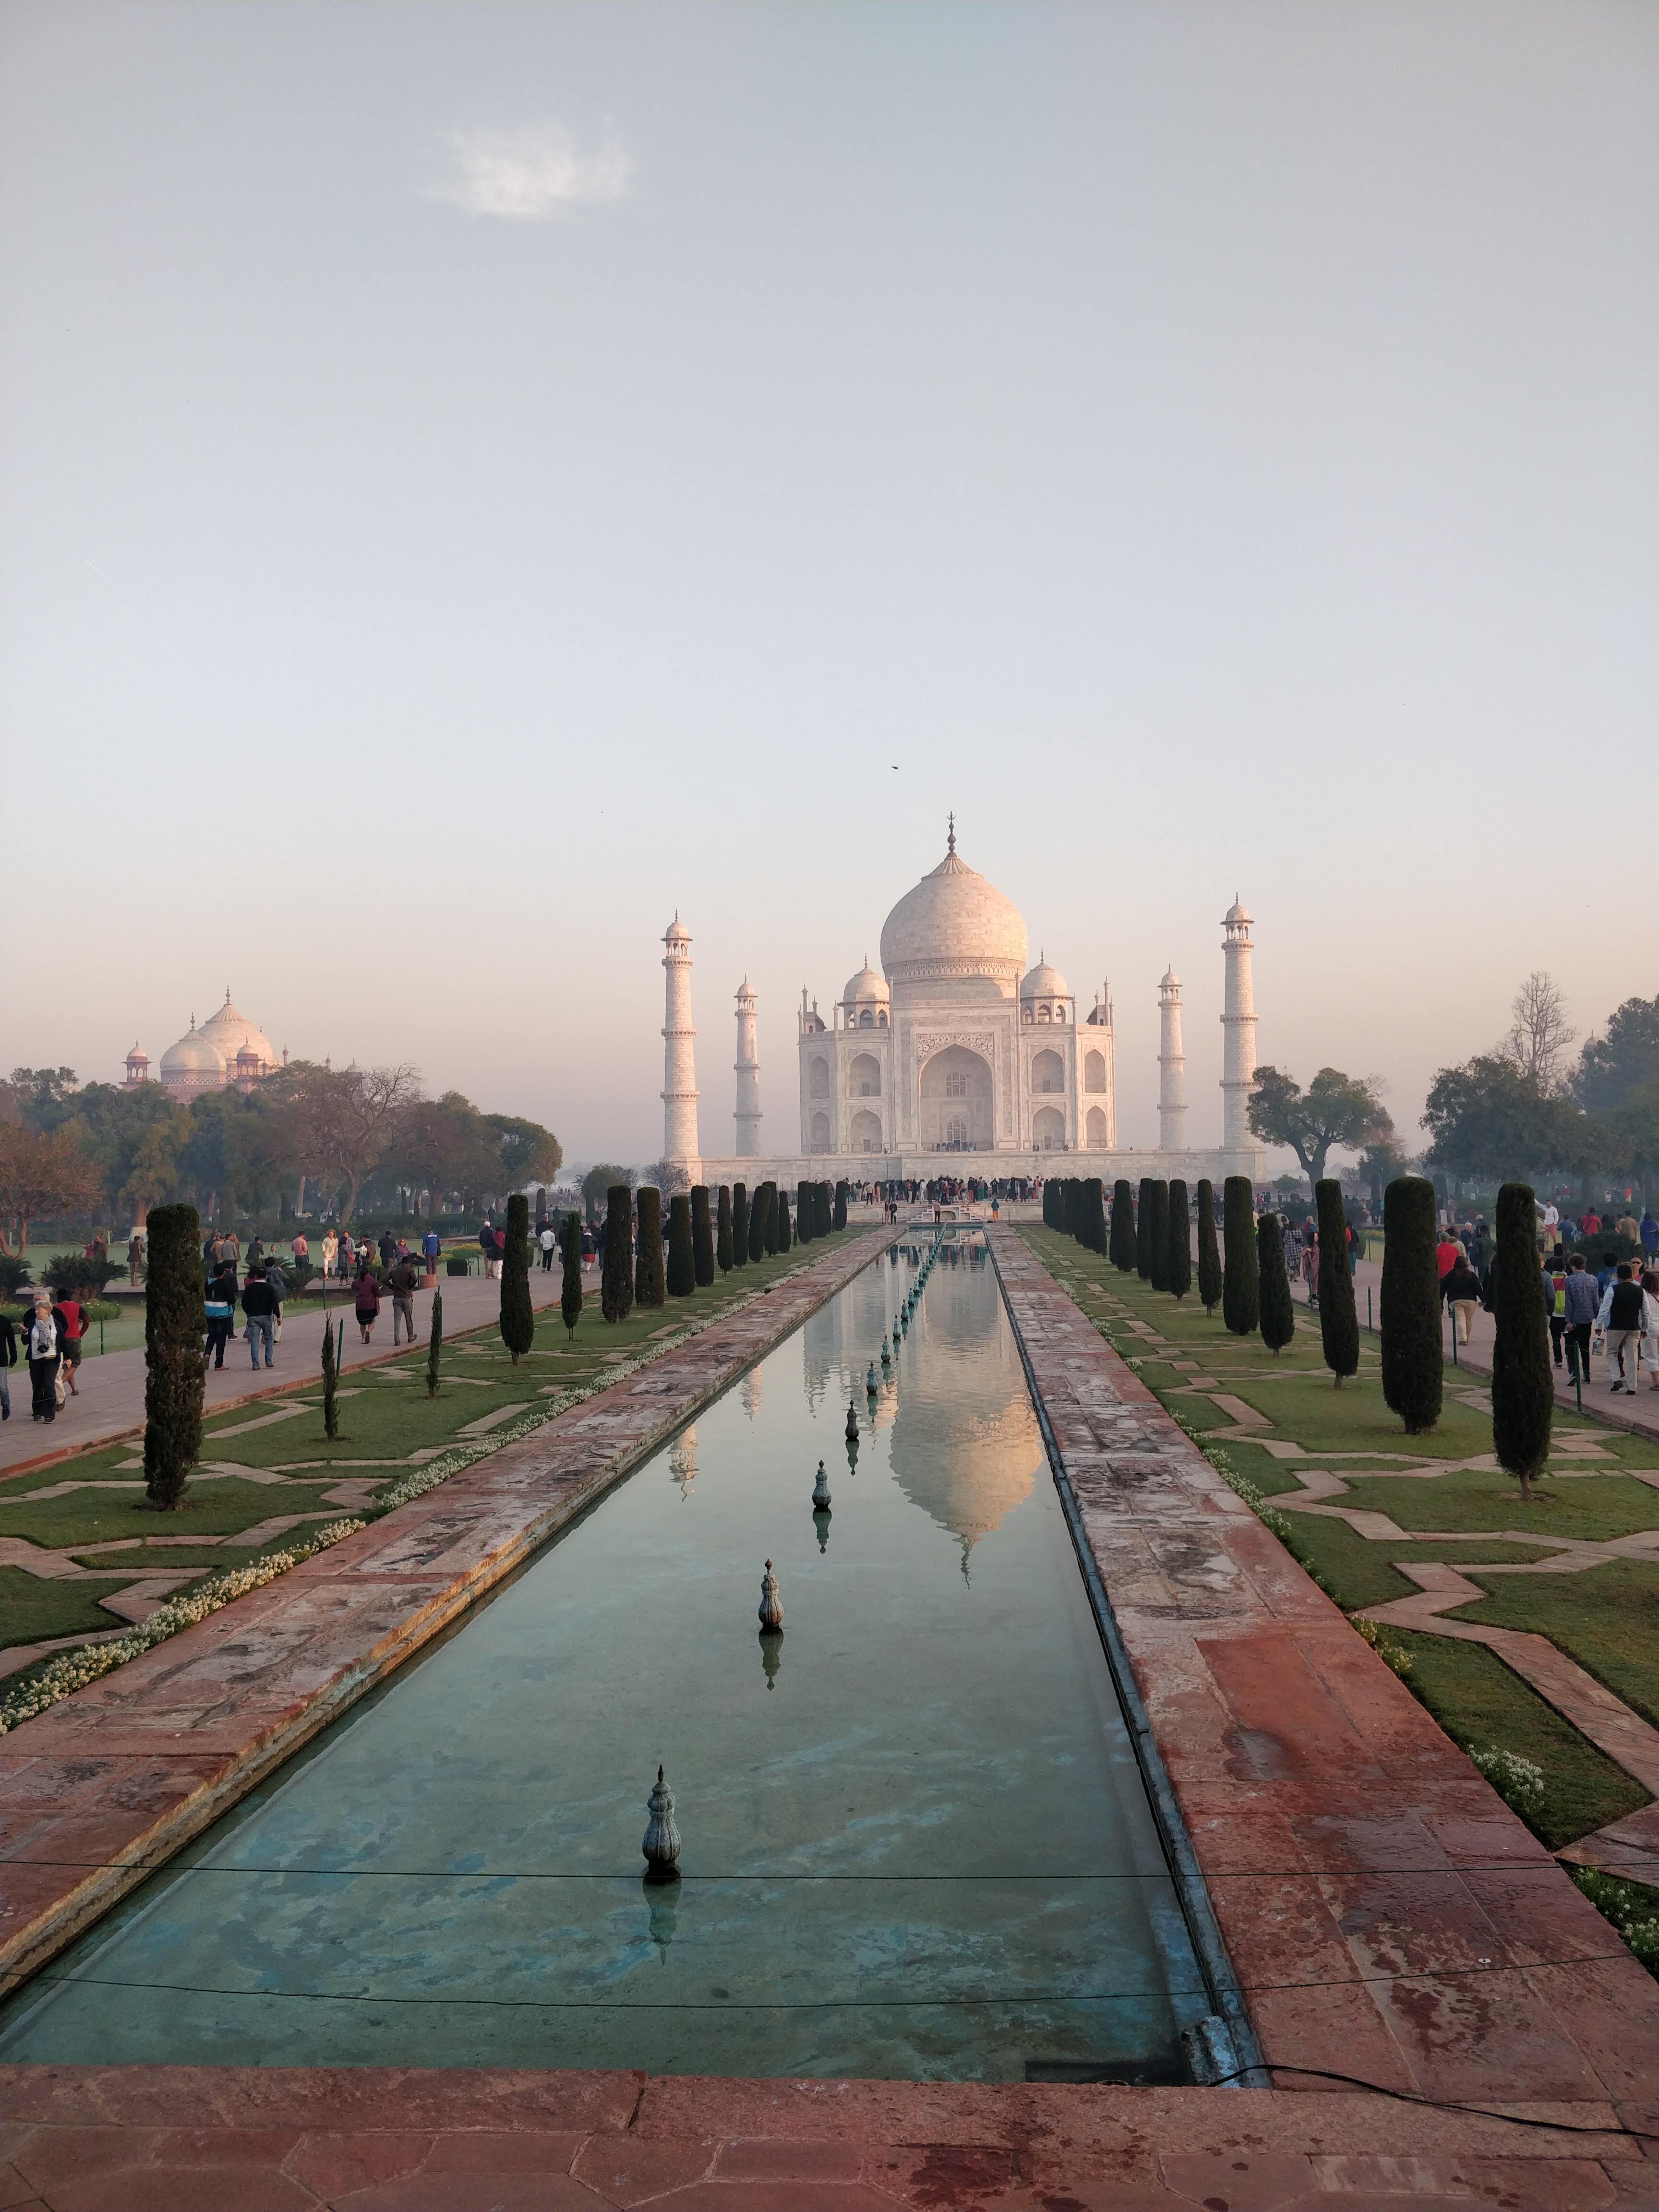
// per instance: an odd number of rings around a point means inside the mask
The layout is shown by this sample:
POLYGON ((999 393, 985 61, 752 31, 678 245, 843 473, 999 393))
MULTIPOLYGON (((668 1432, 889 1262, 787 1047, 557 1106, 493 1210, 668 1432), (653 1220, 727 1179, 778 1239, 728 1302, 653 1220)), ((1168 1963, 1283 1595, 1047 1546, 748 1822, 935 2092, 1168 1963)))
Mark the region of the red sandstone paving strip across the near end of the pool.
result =
MULTIPOLYGON (((1652 2212, 1630 2137, 1283 2090, 11 2066, 13 2212, 1652 2212)), ((9 2194, 7 2194, 9 2190, 9 2194)))

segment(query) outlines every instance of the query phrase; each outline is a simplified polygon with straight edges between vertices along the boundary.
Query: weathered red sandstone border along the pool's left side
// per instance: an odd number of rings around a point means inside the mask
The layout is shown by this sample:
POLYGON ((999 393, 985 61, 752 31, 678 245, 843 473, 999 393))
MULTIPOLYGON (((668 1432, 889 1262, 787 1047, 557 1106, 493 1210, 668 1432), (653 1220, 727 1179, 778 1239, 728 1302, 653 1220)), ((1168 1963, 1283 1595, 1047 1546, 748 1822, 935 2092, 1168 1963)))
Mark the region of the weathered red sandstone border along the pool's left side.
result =
POLYGON ((883 1223, 810 1261, 615 1389, 0 1739, 0 1997, 635 1473, 896 1234, 883 1223))

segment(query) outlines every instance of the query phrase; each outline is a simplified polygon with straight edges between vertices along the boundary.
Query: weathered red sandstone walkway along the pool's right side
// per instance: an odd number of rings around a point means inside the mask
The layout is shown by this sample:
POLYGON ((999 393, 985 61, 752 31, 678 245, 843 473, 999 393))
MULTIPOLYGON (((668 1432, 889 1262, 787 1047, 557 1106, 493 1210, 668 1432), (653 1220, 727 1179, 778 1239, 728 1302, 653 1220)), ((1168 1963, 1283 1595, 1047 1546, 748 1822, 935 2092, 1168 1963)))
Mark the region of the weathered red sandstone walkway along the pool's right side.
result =
POLYGON ((1652 1978, 1026 1243, 991 1243, 1274 2079, 1652 2101, 1652 1978))

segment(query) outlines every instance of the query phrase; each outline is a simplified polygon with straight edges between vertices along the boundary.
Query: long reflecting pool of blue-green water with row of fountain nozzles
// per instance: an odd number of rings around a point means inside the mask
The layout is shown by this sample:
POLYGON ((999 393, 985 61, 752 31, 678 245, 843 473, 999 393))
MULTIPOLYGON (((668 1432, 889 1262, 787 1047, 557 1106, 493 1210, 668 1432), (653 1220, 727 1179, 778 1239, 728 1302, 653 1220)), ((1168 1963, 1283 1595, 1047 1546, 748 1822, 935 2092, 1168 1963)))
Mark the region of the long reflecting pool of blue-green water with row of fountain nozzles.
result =
POLYGON ((0 2055, 1177 2077, 1208 2002, 995 1274, 947 1243, 894 1347, 922 1252, 55 1960, 0 2055))

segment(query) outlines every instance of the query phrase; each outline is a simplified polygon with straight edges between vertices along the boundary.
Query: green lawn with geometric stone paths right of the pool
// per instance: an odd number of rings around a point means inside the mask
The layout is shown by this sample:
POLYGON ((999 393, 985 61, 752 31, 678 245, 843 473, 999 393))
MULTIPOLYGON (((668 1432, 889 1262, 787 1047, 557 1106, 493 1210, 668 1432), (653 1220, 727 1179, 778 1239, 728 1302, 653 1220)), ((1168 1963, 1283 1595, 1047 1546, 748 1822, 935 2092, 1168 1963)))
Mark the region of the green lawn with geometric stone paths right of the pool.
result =
MULTIPOLYGON (((1281 1358, 1259 1336, 1230 1336, 1219 1312, 1206 1316, 1197 1292, 1172 1298, 1135 1274, 1121 1276, 1102 1256, 1084 1252, 1055 1230, 1022 1230, 1037 1259, 1084 1303, 1095 1327, 1135 1360, 1141 1380, 1199 1440, 1232 1431, 1210 1449, 1265 1495, 1301 1489, 1301 1469, 1340 1475, 1347 1493, 1334 1504, 1385 1513, 1396 1526, 1425 1531, 1431 1542, 1371 1540, 1329 1515, 1285 1513, 1287 1546, 1318 1577, 1338 1606, 1356 1613, 1411 1584, 1396 1559, 1447 1559, 1493 1595, 1460 1617, 1528 1628, 1551 1637, 1646 1717, 1659 1712, 1659 1566, 1613 1562, 1573 1575, 1480 1575, 1480 1566, 1548 1557, 1546 1542, 1515 1544, 1475 1531, 1520 1531, 1526 1537, 1608 1540, 1659 1526, 1659 1493, 1621 1469, 1659 1469, 1659 1447, 1646 1438, 1597 1427, 1577 1413, 1555 1416, 1553 1442, 1588 1442, 1588 1462, 1553 1449, 1553 1473, 1537 1484, 1533 1504, 1520 1502, 1515 1482, 1495 1467, 1455 1467, 1442 1475, 1400 1475, 1394 1467, 1491 1458, 1491 1413, 1484 1378, 1447 1369, 1444 1411, 1427 1436, 1405 1436, 1383 1402, 1376 1338, 1360 1334, 1360 1371, 1332 1387, 1318 1336, 1318 1316, 1296 1314, 1296 1334, 1281 1358), (1130 1323, 1150 1323, 1168 1345, 1148 1345, 1130 1323), (1214 1378, 1203 1391, 1175 1360, 1197 1360, 1214 1378), (1239 1429, 1214 1405, 1210 1389, 1239 1398, 1265 1416, 1265 1429, 1239 1429), (1464 1402, 1464 1398, 1475 1402, 1464 1402), (1261 1440, 1294 1442, 1305 1458, 1272 1458, 1261 1440), (1358 1455, 1349 1458, 1352 1453, 1358 1455), (1584 1464, 1584 1473, 1568 1469, 1584 1464)), ((1546 1774, 1542 1809, 1528 1814, 1537 1834, 1559 1847, 1604 1820, 1646 1803, 1646 1792, 1544 1703, 1502 1659, 1478 1644, 1431 1632, 1389 1635, 1413 1655, 1407 1677, 1447 1732, 1464 1745, 1495 1743, 1535 1759, 1546 1774)))

